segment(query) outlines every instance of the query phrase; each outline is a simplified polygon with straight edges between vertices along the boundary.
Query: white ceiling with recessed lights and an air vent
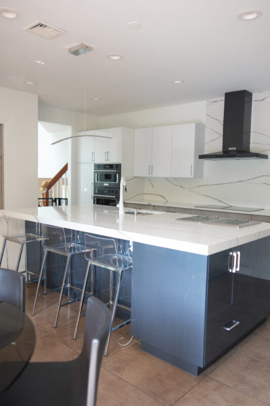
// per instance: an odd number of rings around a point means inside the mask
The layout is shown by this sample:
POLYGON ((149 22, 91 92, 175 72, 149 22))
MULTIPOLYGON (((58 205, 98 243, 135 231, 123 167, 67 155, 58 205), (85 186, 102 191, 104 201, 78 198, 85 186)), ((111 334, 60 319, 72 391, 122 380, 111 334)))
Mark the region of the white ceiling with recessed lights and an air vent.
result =
POLYGON ((269 0, 0 0, 0 7, 21 14, 0 17, 0 86, 37 93, 42 105, 84 112, 85 86, 94 115, 270 90, 269 0), (245 10, 262 16, 240 21, 245 10), (23 30, 38 19, 67 32, 46 40, 23 30), (131 21, 142 27, 128 28, 131 21), (80 43, 93 50, 68 53, 80 43))

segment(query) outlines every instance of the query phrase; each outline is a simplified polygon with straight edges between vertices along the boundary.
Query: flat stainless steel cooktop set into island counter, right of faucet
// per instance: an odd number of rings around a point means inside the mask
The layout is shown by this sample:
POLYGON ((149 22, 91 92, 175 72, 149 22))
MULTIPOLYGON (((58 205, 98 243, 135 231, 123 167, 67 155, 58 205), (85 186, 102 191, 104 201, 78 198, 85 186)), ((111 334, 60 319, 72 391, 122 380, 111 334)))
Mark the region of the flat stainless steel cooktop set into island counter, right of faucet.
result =
POLYGON ((226 227, 242 228, 250 225, 260 224, 260 221, 241 220, 238 218, 227 219, 224 217, 209 217, 209 216, 190 216, 178 218, 179 221, 191 221, 196 223, 206 223, 211 225, 223 225, 226 227))

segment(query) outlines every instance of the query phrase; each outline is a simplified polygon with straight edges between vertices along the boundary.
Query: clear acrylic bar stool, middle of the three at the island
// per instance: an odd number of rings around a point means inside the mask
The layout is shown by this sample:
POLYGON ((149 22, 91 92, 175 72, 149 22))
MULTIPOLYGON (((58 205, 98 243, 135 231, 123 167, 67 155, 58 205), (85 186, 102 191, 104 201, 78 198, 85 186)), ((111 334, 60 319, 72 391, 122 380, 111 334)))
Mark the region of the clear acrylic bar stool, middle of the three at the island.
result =
POLYGON ((72 255, 84 253, 86 251, 86 247, 84 245, 74 243, 72 241, 72 230, 65 230, 62 227, 42 224, 42 236, 43 236, 42 244, 44 246, 44 256, 43 256, 42 265, 41 265, 40 278, 38 279, 38 283, 37 283, 32 316, 34 316, 34 313, 35 313, 36 302, 37 302, 38 296, 41 296, 43 294, 50 293, 50 292, 60 289, 58 308, 57 308, 57 313, 56 313, 56 318, 55 318, 55 323, 54 323, 54 327, 56 327, 61 306, 65 306, 66 304, 79 300, 78 298, 70 300, 70 295, 69 295, 70 289, 72 288, 72 289, 79 290, 82 292, 81 288, 78 288, 78 287, 70 284, 69 270, 70 270, 70 261, 71 261, 72 255), (44 272, 46 272, 45 267, 46 267, 46 258, 47 258, 48 252, 54 252, 56 254, 64 255, 66 257, 66 264, 65 264, 65 270, 64 270, 64 275, 63 275, 63 279, 62 279, 62 285, 61 285, 61 287, 57 287, 55 289, 51 289, 48 291, 45 289, 45 291, 43 293, 38 294, 38 291, 40 290, 43 270, 44 270, 44 272), (65 283, 67 274, 68 274, 67 283, 65 283), (65 288, 68 288, 68 301, 62 304, 61 302, 62 302, 63 290, 65 288))

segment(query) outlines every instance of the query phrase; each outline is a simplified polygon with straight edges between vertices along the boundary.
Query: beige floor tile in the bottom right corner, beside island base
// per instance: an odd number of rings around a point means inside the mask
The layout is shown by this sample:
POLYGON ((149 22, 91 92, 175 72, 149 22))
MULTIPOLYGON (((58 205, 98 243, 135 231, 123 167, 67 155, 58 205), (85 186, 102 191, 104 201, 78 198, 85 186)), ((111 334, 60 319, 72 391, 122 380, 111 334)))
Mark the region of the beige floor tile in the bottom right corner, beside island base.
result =
POLYGON ((209 377, 270 404, 270 366, 235 353, 209 377))

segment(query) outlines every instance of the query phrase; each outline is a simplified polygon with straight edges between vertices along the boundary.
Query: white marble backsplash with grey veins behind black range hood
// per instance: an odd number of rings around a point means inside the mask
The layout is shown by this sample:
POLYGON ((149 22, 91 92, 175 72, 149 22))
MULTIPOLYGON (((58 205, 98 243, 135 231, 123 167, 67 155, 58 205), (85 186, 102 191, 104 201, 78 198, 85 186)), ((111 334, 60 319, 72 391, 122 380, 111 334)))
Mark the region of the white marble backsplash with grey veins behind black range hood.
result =
MULTIPOLYGON (((224 98, 207 101, 205 153, 222 150, 224 98)), ((270 156, 270 91, 253 93, 251 144, 270 156)), ((129 178, 130 200, 167 201, 270 209, 269 159, 204 161, 204 177, 129 178)))

